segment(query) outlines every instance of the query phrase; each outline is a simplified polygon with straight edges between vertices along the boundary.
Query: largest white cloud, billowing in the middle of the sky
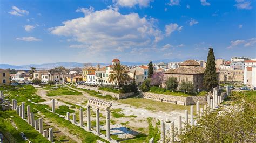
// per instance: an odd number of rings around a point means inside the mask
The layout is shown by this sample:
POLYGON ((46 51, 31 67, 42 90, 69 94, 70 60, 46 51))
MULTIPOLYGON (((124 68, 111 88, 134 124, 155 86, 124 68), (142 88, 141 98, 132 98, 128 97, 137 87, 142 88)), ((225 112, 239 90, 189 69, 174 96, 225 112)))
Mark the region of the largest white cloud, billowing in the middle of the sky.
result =
POLYGON ((50 28, 55 35, 71 37, 86 44, 87 49, 115 50, 127 47, 146 47, 163 39, 155 20, 140 18, 137 13, 123 15, 109 8, 95 11, 85 17, 63 22, 63 26, 50 28))

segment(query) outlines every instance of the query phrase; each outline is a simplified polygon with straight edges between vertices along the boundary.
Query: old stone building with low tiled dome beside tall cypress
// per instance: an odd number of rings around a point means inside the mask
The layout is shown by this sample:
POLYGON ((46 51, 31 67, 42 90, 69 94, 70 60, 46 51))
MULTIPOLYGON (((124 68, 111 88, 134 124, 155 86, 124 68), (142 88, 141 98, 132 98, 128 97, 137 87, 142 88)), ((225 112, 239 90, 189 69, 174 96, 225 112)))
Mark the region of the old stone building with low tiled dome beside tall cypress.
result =
MULTIPOLYGON (((191 81, 194 85, 194 91, 203 90, 205 68, 200 67, 200 64, 194 60, 186 60, 181 63, 177 69, 169 69, 164 73, 164 79, 169 77, 176 77, 179 84, 182 81, 191 81)), ((178 87, 179 88, 179 87, 178 87)))

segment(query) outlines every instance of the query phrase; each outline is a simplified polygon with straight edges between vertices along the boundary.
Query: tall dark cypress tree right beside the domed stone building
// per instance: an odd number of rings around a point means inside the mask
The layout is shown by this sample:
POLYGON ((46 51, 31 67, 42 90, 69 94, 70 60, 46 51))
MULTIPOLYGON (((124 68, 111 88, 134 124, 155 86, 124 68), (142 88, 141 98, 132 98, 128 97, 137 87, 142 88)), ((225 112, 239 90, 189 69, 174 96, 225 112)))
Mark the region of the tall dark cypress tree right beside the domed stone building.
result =
POLYGON ((204 87, 207 90, 212 90, 218 85, 218 77, 216 73, 216 64, 215 64, 215 56, 213 53, 213 48, 209 48, 208 56, 207 56, 207 65, 204 72, 204 87))

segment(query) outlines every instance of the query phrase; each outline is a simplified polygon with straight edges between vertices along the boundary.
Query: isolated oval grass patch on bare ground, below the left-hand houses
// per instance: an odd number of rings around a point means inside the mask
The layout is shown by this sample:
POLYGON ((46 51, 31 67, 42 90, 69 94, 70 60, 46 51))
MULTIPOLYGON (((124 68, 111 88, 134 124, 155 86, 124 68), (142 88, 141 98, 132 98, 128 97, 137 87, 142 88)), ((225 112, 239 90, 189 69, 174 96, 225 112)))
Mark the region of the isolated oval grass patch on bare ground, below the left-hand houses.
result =
POLYGON ((70 89, 69 87, 53 88, 47 92, 47 96, 58 96, 58 95, 80 95, 81 92, 70 89))

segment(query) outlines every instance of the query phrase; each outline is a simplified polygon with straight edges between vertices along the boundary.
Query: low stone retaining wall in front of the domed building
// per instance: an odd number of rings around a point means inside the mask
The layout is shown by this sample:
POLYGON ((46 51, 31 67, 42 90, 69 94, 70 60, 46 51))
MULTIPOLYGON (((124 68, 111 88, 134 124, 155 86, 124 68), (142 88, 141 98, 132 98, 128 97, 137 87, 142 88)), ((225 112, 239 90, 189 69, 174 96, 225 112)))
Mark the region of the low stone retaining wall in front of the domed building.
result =
POLYGON ((165 95, 165 94, 154 94, 151 92, 141 92, 143 98, 152 99, 155 101, 167 102, 178 105, 194 105, 197 101, 200 104, 206 103, 206 96, 173 96, 173 95, 165 95))

